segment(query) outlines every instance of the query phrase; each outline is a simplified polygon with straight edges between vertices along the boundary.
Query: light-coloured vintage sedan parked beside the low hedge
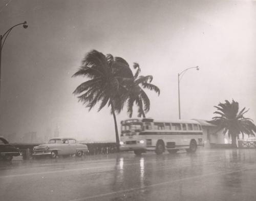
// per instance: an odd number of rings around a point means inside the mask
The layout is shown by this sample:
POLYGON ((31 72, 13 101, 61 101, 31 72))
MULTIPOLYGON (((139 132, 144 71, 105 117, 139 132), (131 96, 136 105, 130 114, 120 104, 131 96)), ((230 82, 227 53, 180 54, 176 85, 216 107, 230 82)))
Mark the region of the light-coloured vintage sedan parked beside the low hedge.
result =
POLYGON ((68 156, 76 154, 81 157, 88 153, 88 147, 84 144, 79 144, 74 138, 53 138, 47 144, 41 144, 33 148, 32 157, 40 155, 49 155, 51 158, 56 158, 58 155, 68 156))

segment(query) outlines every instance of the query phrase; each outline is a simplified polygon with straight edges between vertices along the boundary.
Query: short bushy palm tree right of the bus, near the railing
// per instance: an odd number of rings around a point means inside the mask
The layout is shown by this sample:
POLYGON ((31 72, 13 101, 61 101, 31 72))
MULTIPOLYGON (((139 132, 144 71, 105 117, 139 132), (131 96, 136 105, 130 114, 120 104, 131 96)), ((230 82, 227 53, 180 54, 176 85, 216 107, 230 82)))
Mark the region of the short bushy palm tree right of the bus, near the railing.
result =
POLYGON ((218 130, 223 129, 224 135, 228 132, 228 137, 231 137, 231 146, 233 148, 237 147, 237 138, 239 139, 240 133, 242 133, 243 138, 244 134, 255 136, 256 126, 251 119, 244 117, 244 114, 248 111, 245 110, 245 107, 239 111, 238 102, 232 100, 230 103, 225 100, 225 103, 219 103, 218 106, 214 107, 217 108, 214 114, 220 116, 214 117, 208 122, 217 125, 218 130))

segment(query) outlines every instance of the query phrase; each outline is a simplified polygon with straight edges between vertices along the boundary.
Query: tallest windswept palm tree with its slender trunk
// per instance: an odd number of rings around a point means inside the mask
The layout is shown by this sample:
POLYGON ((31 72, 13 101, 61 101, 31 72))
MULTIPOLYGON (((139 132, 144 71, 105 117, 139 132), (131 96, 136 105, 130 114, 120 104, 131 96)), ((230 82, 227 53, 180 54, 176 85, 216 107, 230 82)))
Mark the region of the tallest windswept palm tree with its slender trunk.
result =
POLYGON ((104 55, 96 50, 87 53, 80 69, 72 76, 83 76, 89 80, 81 83, 73 92, 78 95, 78 102, 81 101, 89 111, 100 102, 98 111, 106 104, 111 106, 111 114, 114 118, 116 143, 119 147, 119 135, 117 129, 115 102, 118 101, 117 94, 121 94, 120 82, 123 78, 133 76, 129 64, 120 57, 113 57, 111 54, 104 55))

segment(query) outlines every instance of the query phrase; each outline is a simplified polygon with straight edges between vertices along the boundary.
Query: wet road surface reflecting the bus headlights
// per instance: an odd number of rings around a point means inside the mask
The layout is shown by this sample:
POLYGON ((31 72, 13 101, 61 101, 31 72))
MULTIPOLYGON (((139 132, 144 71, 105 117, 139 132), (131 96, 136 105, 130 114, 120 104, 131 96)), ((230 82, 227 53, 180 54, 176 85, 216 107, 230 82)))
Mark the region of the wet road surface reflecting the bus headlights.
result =
POLYGON ((0 162, 1 200, 256 200, 256 149, 0 162))

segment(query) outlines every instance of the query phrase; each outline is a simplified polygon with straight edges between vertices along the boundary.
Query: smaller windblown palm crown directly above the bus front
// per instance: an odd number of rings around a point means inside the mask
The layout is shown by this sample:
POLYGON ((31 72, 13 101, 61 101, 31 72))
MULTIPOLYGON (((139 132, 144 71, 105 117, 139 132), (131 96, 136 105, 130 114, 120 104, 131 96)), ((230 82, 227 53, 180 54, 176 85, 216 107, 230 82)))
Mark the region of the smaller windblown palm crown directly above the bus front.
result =
MULTIPOLYGON (((134 69, 137 69, 135 75, 129 79, 123 79, 121 85, 125 88, 124 94, 122 94, 122 101, 119 103, 124 104, 127 100, 127 113, 131 118, 133 115, 133 105, 134 103, 138 106, 138 117, 145 118, 145 113, 150 110, 150 99, 147 97, 146 93, 142 88, 147 88, 149 90, 155 91, 158 96, 160 94, 159 88, 151 84, 153 76, 139 76, 140 66, 138 63, 134 63, 134 69), (141 87, 141 86, 142 87, 141 87)), ((117 108, 118 105, 116 104, 117 108)), ((123 105, 119 105, 119 110, 122 109, 123 105)))

